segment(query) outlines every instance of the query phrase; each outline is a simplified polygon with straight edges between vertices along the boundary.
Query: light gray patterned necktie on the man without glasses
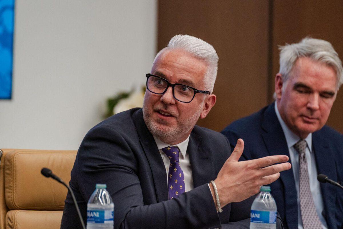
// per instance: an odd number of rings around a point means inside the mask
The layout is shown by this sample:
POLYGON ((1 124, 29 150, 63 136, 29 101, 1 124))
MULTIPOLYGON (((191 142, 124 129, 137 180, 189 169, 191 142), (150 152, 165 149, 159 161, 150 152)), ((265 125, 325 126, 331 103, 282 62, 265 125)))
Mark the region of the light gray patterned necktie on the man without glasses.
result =
POLYGON ((305 140, 299 140, 294 148, 299 154, 299 193, 300 193, 300 211, 303 219, 304 229, 321 229, 321 221, 317 215, 315 203, 310 190, 310 181, 307 169, 307 160, 305 156, 307 143, 305 140))

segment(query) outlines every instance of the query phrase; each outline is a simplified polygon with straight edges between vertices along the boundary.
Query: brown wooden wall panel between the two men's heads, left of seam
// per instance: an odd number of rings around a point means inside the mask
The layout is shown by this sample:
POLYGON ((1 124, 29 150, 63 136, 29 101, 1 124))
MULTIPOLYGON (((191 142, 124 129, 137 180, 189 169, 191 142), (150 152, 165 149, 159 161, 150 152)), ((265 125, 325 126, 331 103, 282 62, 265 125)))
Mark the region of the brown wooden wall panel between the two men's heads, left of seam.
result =
POLYGON ((221 131, 267 105, 268 20, 267 0, 158 2, 158 50, 174 35, 189 34, 218 53, 217 102, 199 125, 221 131))

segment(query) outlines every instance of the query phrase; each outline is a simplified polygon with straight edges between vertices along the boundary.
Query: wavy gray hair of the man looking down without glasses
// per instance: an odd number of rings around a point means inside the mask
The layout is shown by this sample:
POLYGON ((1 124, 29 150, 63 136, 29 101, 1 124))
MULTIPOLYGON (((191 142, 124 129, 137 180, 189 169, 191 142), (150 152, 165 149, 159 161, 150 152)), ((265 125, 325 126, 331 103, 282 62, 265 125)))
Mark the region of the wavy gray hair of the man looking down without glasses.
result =
POLYGON ((331 66, 336 72, 337 90, 341 87, 343 83, 342 62, 330 42, 321 39, 305 37, 299 43, 279 46, 279 50, 279 73, 281 73, 284 82, 288 80, 289 73, 291 72, 297 59, 300 57, 309 57, 312 60, 316 60, 331 66))

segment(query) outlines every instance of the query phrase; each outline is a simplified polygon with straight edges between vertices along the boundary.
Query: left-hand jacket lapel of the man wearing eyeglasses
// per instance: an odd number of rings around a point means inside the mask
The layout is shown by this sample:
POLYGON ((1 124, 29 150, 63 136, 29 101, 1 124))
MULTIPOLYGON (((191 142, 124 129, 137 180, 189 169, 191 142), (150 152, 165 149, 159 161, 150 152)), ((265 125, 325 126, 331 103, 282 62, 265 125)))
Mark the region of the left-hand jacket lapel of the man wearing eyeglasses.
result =
POLYGON ((168 184, 166 169, 164 168, 164 163, 156 146, 155 140, 145 125, 142 109, 136 111, 132 115, 132 119, 139 136, 140 144, 150 165, 154 179, 157 203, 167 201, 168 184))

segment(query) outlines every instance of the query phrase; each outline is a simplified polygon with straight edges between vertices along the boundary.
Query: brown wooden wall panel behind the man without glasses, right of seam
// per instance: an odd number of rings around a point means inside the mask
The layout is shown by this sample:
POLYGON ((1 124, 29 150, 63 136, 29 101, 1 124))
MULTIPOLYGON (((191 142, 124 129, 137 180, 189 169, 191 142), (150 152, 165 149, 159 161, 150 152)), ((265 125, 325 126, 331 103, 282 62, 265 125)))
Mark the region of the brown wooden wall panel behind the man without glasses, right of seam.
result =
MULTIPOLYGON (((273 3, 273 62, 270 84, 279 71, 277 45, 296 43, 305 36, 329 41, 343 59, 343 1, 342 0, 275 0, 273 3)), ((343 133, 343 87, 332 107, 327 124, 343 133)), ((274 92, 274 91, 273 91, 274 92)), ((269 94, 271 98, 272 94, 269 94)))

